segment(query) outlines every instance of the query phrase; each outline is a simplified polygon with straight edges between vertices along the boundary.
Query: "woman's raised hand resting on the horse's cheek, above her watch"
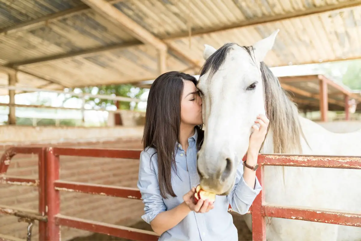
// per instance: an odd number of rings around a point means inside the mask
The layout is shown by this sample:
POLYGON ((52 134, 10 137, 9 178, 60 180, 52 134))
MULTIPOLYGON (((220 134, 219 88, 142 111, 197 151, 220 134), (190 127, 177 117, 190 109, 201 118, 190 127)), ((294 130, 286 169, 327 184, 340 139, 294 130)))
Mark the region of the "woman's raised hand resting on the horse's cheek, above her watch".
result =
POLYGON ((257 120, 255 121, 255 124, 252 126, 253 133, 249 138, 249 147, 247 153, 258 155, 262 142, 265 140, 268 124, 269 124, 269 120, 267 116, 263 114, 257 116, 257 120), (258 127, 256 123, 258 123, 260 127, 258 127))

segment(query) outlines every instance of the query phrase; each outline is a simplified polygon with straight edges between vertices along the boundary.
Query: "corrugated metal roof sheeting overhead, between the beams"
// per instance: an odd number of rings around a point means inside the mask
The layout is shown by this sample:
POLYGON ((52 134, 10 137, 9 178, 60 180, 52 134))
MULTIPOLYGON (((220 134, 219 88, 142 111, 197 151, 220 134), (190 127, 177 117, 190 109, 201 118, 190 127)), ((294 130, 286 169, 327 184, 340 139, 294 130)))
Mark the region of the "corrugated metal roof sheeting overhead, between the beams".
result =
MULTIPOLYGON (((249 46, 275 29, 280 32, 265 60, 269 66, 361 56, 360 0, 108 1, 149 33, 199 63, 204 61, 203 44, 216 48, 226 42, 249 46), (336 9, 339 4, 353 6, 336 9), (326 7, 331 11, 322 10, 326 7), (312 11, 319 13, 310 14, 312 11), (310 15, 295 17, 300 13, 310 15), (274 16, 282 20, 274 21, 274 16), (268 20, 273 21, 263 23, 268 20), (252 25, 243 26, 249 23, 252 25)), ((0 0, 0 50, 0 64, 17 66, 67 87, 136 82, 159 74, 154 47, 142 44, 80 0, 0 0), (66 15, 62 15, 64 11, 66 15), (36 19, 42 21, 34 23, 36 19), (27 22, 32 24, 24 27, 27 22), (129 43, 129 47, 121 48, 129 43), (88 51, 109 46, 119 48, 88 51), (88 52, 60 56, 82 51, 88 52), (43 59, 54 56, 56 60, 43 59), (34 63, 37 61, 41 63, 34 63)), ((191 74, 199 70, 172 51, 167 55, 167 67, 191 74)), ((42 85, 19 76, 22 82, 42 85)))

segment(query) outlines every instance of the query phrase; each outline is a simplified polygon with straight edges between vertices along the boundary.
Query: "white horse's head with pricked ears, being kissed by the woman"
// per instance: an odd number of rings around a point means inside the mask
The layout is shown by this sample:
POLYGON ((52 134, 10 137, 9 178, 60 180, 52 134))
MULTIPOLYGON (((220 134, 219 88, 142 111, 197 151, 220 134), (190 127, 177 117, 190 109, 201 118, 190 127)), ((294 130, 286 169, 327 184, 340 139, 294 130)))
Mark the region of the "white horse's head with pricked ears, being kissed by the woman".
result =
POLYGON ((246 154, 252 125, 266 113, 262 61, 279 30, 251 47, 205 45, 197 88, 203 99, 205 135, 197 168, 203 189, 226 195, 246 154))

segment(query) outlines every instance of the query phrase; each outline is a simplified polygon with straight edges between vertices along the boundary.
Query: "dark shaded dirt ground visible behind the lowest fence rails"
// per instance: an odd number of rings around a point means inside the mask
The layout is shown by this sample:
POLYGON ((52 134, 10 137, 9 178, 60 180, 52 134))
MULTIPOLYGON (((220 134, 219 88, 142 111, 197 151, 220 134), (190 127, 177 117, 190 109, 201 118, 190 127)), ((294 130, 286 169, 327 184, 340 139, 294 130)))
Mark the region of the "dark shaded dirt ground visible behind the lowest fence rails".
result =
MULTIPOLYGON (((233 223, 236 226, 236 228, 238 229, 238 240, 239 241, 251 241, 252 233, 247 228, 247 225, 243 221, 242 216, 235 212, 231 212, 231 214, 233 216, 233 223)), ((147 230, 147 231, 152 231, 151 225, 145 223, 144 221, 140 221, 134 225, 131 225, 130 227, 143 229, 143 230, 147 230)), ((70 241, 128 241, 128 240, 129 239, 118 238, 118 237, 109 236, 106 234, 93 233, 90 236, 76 237, 76 238, 71 239, 70 241)))

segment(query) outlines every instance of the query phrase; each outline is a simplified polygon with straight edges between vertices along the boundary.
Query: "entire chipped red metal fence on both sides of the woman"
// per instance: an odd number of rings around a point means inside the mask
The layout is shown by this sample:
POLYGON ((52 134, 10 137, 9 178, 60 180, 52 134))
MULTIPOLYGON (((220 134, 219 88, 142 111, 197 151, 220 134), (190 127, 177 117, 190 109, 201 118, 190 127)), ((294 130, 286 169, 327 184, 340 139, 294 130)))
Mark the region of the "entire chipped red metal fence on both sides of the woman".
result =
MULTIPOLYGON (((0 212, 18 216, 29 223, 33 220, 39 220, 39 240, 60 240, 60 225, 131 240, 158 240, 158 236, 154 232, 60 214, 60 191, 141 199, 139 190, 135 188, 59 180, 59 156, 61 155, 139 159, 140 151, 52 147, 14 147, 7 149, 0 159, 1 183, 37 186, 39 188, 39 212, 29 212, 4 206, 0 206, 0 212), (5 176, 12 157, 18 153, 38 154, 39 180, 5 176)), ((256 175, 261 185, 264 165, 361 169, 361 157, 349 156, 259 155, 258 163, 261 167, 258 168, 256 175)), ((262 191, 256 197, 250 211, 252 213, 252 236, 253 240, 257 241, 266 240, 266 223, 264 219, 266 216, 361 227, 360 214, 265 205, 264 192, 262 191)), ((30 237, 28 236, 28 238, 30 237)))

